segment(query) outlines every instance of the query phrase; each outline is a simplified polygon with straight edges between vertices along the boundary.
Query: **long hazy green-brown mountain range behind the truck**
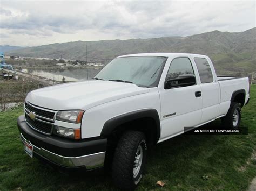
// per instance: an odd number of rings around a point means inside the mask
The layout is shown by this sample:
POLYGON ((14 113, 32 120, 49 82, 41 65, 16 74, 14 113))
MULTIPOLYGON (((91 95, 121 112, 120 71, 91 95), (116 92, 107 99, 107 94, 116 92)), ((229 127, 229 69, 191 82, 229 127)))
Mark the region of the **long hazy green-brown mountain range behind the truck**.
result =
POLYGON ((256 28, 244 32, 212 31, 187 37, 75 41, 22 49, 7 55, 64 58, 107 63, 124 54, 144 52, 184 52, 206 54, 219 71, 256 71, 256 28))

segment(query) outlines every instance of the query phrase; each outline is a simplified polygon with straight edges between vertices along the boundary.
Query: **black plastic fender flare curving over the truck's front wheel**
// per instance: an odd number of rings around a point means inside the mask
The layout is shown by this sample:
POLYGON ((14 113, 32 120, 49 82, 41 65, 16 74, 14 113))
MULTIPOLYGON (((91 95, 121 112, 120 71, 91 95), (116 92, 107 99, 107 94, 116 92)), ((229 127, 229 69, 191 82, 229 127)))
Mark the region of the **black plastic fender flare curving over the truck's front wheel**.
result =
POLYGON ((155 143, 157 143, 160 138, 161 126, 160 126, 159 115, 156 109, 142 109, 142 110, 132 111, 126 114, 113 117, 105 122, 102 132, 100 133, 100 136, 109 137, 114 130, 119 129, 120 125, 136 119, 145 118, 145 117, 153 118, 154 121, 156 122, 157 132, 156 132, 155 143))

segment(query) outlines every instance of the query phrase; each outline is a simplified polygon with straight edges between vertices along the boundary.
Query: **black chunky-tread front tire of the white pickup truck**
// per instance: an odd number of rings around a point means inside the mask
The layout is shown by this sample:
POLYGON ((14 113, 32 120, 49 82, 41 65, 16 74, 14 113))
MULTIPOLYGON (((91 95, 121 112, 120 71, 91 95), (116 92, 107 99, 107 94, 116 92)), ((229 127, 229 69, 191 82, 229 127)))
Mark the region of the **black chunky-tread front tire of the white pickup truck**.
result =
POLYGON ((112 178, 118 188, 122 190, 134 190, 138 186, 145 169, 146 152, 147 145, 144 133, 139 131, 127 131, 123 133, 114 152, 112 164, 112 178), (136 165, 135 157, 138 158, 137 154, 141 154, 142 159, 137 163, 137 165, 141 165, 135 169, 137 173, 134 174, 133 168, 136 165))

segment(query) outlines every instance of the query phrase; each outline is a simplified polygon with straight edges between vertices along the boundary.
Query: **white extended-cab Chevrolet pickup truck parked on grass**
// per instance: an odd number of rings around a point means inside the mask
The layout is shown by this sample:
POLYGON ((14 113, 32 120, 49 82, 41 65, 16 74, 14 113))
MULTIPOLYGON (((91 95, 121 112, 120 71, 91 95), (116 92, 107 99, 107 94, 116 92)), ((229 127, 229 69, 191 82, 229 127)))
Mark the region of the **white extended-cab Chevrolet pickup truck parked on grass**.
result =
POLYGON ((237 128, 249 101, 247 77, 218 77, 199 54, 123 55, 93 79, 31 91, 18 129, 30 157, 87 171, 111 164, 121 189, 140 182, 149 145, 217 118, 237 128))

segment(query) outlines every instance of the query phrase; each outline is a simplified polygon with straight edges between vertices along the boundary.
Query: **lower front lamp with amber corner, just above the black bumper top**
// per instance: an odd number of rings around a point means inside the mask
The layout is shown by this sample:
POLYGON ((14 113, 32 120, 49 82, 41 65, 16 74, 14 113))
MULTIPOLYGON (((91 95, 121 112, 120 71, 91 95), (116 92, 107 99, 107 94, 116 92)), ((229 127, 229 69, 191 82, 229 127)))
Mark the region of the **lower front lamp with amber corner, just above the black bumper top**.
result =
POLYGON ((55 126, 53 134, 71 139, 81 138, 80 129, 63 128, 62 126, 55 126))

